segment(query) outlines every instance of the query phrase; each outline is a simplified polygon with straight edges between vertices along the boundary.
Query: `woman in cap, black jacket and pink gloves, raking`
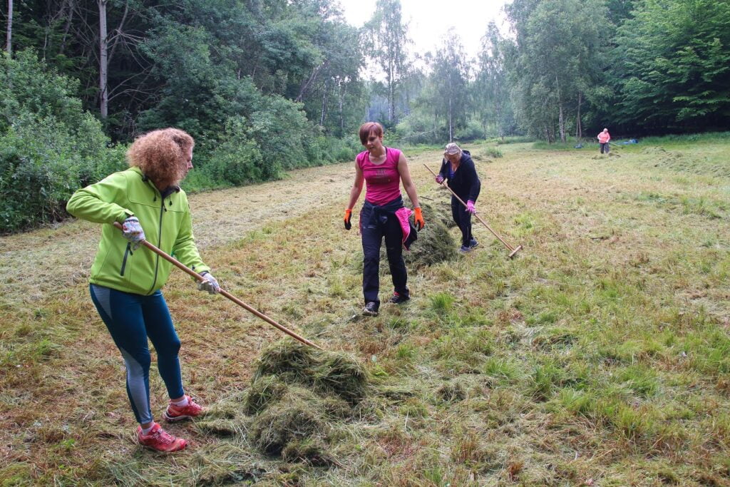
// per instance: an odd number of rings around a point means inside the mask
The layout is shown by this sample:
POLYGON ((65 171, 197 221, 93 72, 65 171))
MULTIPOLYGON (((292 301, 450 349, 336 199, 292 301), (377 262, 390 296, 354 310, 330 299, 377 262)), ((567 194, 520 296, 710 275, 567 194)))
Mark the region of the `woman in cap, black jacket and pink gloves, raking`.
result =
POLYGON ((482 183, 477 176, 477 170, 468 150, 461 150, 456 143, 446 145, 441 170, 436 177, 436 182, 441 184, 448 180, 451 191, 466 202, 464 207, 456 197, 451 196, 451 215, 456 225, 461 230, 460 252, 471 251, 479 242, 472 236, 472 213, 476 213, 475 204, 479 197, 482 183))

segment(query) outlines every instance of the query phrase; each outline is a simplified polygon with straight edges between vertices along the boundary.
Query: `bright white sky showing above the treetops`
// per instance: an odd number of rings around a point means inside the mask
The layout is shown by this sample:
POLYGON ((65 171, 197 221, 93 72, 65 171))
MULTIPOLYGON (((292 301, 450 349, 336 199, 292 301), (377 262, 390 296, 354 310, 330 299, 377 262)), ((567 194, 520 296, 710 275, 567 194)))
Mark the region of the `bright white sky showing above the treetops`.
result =
MULTIPOLYGON (((412 50, 436 53, 448 29, 456 27, 468 58, 476 58, 487 24, 494 20, 504 33, 507 30, 502 7, 510 0, 401 0, 401 15, 409 23, 412 50)), ((372 17, 374 1, 339 0, 347 23, 361 27, 372 17)))

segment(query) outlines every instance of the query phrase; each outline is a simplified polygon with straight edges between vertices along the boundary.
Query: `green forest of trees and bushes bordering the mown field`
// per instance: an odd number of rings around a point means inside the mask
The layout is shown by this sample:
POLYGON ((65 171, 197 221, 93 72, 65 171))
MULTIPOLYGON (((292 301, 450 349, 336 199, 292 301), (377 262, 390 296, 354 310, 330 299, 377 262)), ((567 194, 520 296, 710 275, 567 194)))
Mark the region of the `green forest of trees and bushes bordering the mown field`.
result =
POLYGON ((399 0, 356 28, 335 0, 7 0, 0 231, 64 218, 137 134, 196 139, 188 189, 350 160, 358 126, 442 144, 726 129, 730 3, 514 0, 469 58, 414 53, 399 0))

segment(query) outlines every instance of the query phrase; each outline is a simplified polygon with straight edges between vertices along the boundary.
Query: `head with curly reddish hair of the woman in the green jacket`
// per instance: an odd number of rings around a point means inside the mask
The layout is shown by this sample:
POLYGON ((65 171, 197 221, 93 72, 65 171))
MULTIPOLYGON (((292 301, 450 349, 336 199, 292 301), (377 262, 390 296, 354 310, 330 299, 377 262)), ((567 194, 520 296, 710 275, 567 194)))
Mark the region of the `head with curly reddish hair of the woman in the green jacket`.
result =
POLYGON ((159 129, 142 134, 127 150, 130 166, 137 166, 158 188, 177 185, 187 174, 188 150, 193 137, 180 129, 159 129))

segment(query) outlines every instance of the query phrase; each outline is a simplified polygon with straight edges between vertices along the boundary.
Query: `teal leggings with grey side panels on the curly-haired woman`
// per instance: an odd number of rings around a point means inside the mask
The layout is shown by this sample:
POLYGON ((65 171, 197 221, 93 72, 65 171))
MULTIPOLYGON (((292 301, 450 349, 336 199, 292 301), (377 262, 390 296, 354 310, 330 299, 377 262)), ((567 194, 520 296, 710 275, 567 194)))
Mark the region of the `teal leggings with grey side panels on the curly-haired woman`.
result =
POLYGON ((167 303, 160 291, 151 296, 125 293, 101 285, 89 285, 91 300, 119 348, 127 369, 127 395, 139 423, 152 421, 150 411, 150 348, 157 352, 157 368, 167 394, 177 399, 185 394, 180 377, 180 338, 172 325, 167 303))

